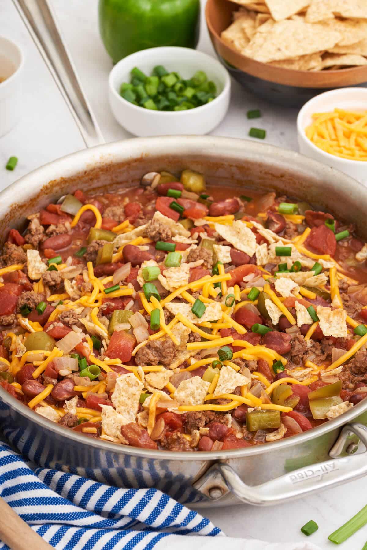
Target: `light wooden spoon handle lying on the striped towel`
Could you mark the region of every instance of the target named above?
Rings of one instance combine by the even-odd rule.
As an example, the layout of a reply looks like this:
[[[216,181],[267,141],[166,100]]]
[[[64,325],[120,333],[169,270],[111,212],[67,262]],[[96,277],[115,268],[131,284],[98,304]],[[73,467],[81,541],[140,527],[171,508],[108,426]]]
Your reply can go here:
[[[12,550],[54,550],[0,497],[0,538]]]

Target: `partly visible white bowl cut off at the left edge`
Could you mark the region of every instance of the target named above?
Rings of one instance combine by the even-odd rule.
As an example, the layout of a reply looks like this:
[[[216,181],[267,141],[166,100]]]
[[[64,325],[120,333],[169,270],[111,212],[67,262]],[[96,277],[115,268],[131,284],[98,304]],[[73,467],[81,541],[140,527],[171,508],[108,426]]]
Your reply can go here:
[[[0,136],[17,124],[21,113],[24,57],[19,46],[0,36]]]

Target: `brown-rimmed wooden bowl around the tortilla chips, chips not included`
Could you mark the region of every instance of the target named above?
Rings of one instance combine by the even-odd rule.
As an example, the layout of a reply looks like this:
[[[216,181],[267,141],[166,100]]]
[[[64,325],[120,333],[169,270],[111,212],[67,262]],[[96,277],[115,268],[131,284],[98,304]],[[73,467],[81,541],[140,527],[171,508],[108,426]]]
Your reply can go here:
[[[221,39],[239,5],[228,0],[207,0],[205,17],[218,58],[248,91],[266,101],[300,107],[311,97],[339,87],[367,86],[367,65],[351,69],[303,71],[260,63],[233,50]]]

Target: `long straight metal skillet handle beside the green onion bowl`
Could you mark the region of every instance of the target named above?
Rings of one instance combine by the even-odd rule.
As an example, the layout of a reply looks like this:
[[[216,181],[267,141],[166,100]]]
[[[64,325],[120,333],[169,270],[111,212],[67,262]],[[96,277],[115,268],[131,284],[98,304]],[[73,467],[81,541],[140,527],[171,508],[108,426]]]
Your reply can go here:
[[[105,143],[47,0],[13,0],[72,113],[86,147]]]

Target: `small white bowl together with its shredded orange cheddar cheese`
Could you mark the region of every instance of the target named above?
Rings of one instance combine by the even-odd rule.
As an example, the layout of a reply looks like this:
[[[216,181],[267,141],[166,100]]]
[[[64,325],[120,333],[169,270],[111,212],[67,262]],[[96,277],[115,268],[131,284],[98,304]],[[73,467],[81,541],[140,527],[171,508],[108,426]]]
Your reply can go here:
[[[315,113],[325,113],[325,116],[316,118]],[[303,155],[367,185],[366,88],[339,88],[313,97],[298,113],[297,131],[299,151]],[[350,157],[354,155],[359,155],[361,160],[352,160]]]

